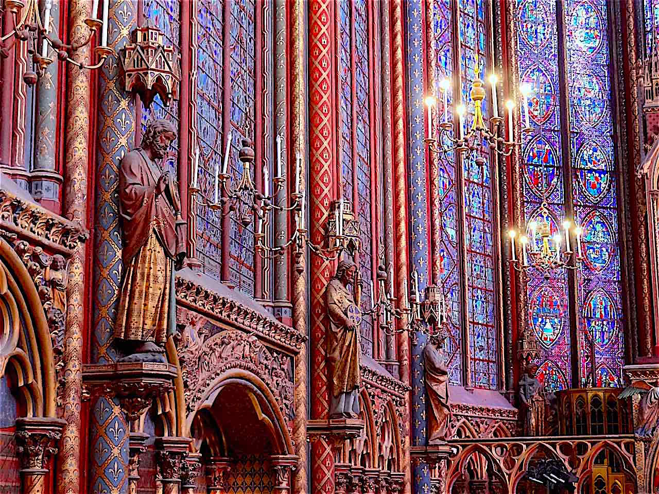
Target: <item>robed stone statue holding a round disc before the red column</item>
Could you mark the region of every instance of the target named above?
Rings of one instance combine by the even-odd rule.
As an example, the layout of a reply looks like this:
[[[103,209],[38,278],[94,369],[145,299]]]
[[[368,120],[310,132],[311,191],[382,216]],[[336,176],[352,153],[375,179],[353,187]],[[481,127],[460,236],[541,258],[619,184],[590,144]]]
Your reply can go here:
[[[353,286],[353,292],[348,286]],[[359,373],[360,281],[353,261],[339,262],[334,279],[326,288],[329,314],[327,354],[331,377],[331,418],[357,418]]]

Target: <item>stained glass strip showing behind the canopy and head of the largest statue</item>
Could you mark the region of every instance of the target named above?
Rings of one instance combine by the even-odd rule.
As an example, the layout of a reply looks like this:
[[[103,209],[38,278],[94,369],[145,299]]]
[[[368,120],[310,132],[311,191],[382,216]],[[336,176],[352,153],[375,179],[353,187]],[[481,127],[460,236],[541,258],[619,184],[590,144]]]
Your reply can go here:
[[[165,36],[165,43],[174,47],[174,60],[177,66],[181,56],[181,2],[180,0],[142,0],[142,9],[146,25],[158,28]],[[179,70],[179,69],[177,69]],[[149,121],[165,119],[179,126],[179,102],[172,101],[169,106],[163,105],[160,96],[154,98],[149,108],[142,108],[142,132],[146,130]],[[179,155],[178,138],[172,143],[165,163],[176,173]]]

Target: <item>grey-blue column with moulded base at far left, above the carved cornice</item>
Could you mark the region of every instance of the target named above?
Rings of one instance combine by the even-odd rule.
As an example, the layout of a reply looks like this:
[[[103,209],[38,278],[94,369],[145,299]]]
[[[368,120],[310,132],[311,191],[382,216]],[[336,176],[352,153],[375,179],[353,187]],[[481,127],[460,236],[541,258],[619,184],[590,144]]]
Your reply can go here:
[[[42,12],[50,7],[50,32],[59,30],[59,1],[42,0]],[[43,14],[42,14],[43,15]],[[43,19],[43,16],[42,16]],[[49,47],[54,61],[37,80],[36,126],[34,131],[34,169],[30,181],[32,195],[41,196],[41,204],[60,213],[59,188],[62,176],[55,171],[55,132],[57,130],[57,53]]]

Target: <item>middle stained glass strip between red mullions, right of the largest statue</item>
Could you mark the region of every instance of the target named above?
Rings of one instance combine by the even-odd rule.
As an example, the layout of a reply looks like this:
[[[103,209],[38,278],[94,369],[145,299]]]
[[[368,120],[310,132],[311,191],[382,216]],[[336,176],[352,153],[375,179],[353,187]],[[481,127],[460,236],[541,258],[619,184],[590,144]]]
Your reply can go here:
[[[215,198],[215,169],[222,162],[223,5],[200,0],[197,7],[196,124],[199,146],[198,186],[205,202]],[[221,275],[222,225],[219,212],[197,207],[196,255],[208,275]]]

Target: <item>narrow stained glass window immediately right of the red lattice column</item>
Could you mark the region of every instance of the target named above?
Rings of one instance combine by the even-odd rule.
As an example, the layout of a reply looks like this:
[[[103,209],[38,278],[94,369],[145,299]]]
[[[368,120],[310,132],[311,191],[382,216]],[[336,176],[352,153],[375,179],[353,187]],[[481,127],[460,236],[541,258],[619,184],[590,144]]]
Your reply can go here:
[[[371,113],[366,0],[341,0],[337,12],[341,194],[353,205],[359,220],[362,245],[358,264],[364,280],[362,310],[368,310],[372,297],[368,281],[373,279],[371,239],[376,230],[371,221]],[[361,343],[362,351],[372,356],[371,316],[362,319]]]

